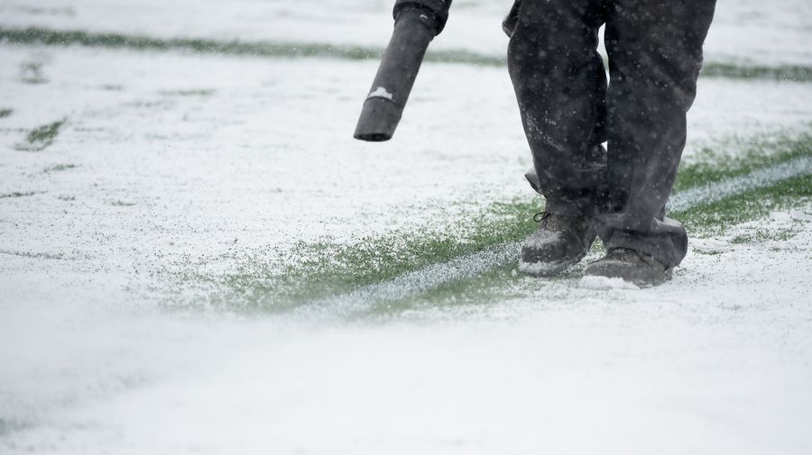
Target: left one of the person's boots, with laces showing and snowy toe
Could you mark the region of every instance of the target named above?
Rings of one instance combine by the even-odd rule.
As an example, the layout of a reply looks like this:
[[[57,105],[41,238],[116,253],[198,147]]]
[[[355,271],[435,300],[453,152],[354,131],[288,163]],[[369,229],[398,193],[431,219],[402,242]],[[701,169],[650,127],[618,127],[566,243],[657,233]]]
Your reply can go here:
[[[540,214],[539,229],[521,243],[519,270],[549,277],[584,259],[595,241],[595,223],[584,216]]]

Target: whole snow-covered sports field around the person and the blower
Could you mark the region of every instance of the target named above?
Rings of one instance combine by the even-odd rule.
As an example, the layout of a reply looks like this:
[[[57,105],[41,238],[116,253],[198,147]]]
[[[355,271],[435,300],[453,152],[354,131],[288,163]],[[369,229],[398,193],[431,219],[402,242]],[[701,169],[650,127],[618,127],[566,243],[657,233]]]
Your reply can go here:
[[[4,0],[0,32],[380,47],[391,4]],[[456,0],[433,46],[503,55],[509,4]],[[808,71],[809,3],[766,4],[721,0],[706,60]],[[661,287],[494,263],[423,280],[406,303],[360,292],[244,311],[285,298],[257,283],[304,273],[284,253],[362,257],[402,236],[397,261],[438,237],[464,246],[469,226],[503,221],[494,207],[531,202],[506,69],[427,63],[394,140],[368,144],[351,135],[374,59],[0,42],[0,61],[0,452],[812,450],[808,164],[742,189],[758,210],[725,196],[722,222],[685,196],[730,180],[725,163],[808,163],[808,77],[701,79],[698,177],[678,193],[694,239]],[[336,260],[302,259],[303,282],[363,275]],[[417,286],[432,270],[380,276]]]

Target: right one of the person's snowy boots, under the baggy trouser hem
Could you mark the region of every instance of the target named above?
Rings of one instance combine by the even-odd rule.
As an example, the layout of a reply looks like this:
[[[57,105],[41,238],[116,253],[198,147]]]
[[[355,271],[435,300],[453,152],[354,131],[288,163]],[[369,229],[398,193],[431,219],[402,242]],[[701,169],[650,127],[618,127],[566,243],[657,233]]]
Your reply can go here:
[[[601,259],[586,266],[586,275],[623,278],[637,286],[659,285],[671,279],[672,268],[646,254],[628,248],[613,248]]]

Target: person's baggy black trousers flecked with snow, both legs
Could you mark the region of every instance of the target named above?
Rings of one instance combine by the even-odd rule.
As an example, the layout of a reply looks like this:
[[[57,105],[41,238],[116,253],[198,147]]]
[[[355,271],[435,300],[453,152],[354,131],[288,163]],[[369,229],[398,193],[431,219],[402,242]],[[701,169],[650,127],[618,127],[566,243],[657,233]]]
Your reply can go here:
[[[665,204],[714,8],[715,0],[517,0],[505,20],[531,185],[547,211],[593,216],[606,248],[668,266],[685,257],[685,228]],[[604,24],[608,83],[597,52]]]

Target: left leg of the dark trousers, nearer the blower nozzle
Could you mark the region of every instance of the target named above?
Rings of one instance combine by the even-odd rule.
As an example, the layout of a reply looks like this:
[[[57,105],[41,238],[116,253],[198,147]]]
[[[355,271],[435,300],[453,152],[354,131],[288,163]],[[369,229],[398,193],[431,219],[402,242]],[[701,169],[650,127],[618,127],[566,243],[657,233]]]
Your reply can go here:
[[[515,10],[508,67],[535,187],[554,214],[593,213],[603,178],[604,157],[595,153],[605,141],[606,75],[596,50],[602,3],[523,0]]]

